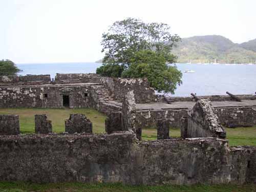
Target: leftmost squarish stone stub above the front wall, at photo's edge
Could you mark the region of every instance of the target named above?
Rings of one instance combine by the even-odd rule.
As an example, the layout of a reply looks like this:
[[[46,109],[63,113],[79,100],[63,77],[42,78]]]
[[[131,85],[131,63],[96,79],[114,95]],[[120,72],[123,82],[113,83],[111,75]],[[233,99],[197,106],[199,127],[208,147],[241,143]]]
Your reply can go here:
[[[0,115],[0,135],[18,135],[19,116]]]

